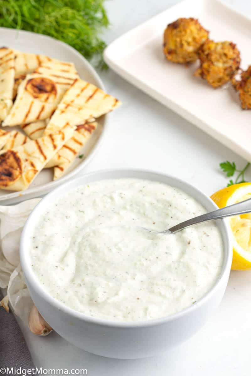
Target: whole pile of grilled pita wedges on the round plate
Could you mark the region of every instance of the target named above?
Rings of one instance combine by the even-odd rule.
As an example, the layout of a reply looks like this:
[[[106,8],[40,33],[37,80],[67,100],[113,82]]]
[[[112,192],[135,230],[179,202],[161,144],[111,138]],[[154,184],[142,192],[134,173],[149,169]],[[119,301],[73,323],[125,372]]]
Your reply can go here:
[[[60,178],[96,130],[95,118],[121,105],[81,80],[74,64],[48,56],[2,47],[0,72],[2,125],[25,133],[0,129],[4,190],[26,189],[44,167],[54,167],[53,179]]]

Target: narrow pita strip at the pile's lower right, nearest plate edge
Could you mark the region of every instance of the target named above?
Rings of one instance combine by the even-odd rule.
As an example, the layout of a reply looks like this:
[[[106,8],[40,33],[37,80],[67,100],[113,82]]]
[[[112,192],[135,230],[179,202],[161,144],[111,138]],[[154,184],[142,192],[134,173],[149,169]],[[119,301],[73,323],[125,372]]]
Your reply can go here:
[[[47,163],[46,168],[55,167],[54,180],[61,177],[76,158],[82,147],[90,139],[97,128],[97,123],[84,123],[78,125],[73,136],[61,147],[58,153]]]

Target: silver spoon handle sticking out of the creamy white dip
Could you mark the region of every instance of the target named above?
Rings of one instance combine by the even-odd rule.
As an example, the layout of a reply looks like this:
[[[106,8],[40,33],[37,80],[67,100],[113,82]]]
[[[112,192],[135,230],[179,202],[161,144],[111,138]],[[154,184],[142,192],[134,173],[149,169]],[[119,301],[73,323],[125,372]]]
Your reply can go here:
[[[164,232],[175,233],[180,230],[185,229],[186,227],[191,226],[192,224],[211,221],[213,219],[231,217],[233,215],[240,215],[251,212],[251,199],[238,202],[237,204],[226,206],[225,208],[214,210],[206,214],[199,215],[198,217],[191,218],[187,221],[176,224],[176,226],[171,227],[169,230]]]

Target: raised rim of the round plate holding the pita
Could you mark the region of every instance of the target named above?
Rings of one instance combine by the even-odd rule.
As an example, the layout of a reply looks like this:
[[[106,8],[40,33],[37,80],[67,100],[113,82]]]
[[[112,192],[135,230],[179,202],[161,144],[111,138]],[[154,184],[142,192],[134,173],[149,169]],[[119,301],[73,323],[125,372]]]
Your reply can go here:
[[[81,53],[79,53],[77,50],[75,50],[73,47],[71,47],[69,44],[60,41],[52,36],[49,35],[44,35],[40,33],[34,33],[32,31],[27,31],[27,30],[17,30],[17,29],[11,29],[9,27],[0,27],[0,33],[21,33],[21,35],[32,35],[33,37],[35,36],[36,38],[42,38],[42,39],[53,39],[57,44],[60,44],[64,49],[70,51],[71,53],[75,54],[80,58],[82,61],[84,61],[84,64],[87,66],[90,74],[93,76],[93,78],[97,82],[97,86],[99,86],[100,89],[105,91],[105,85],[103,84],[102,79],[100,78],[99,74],[96,72],[96,70],[93,68],[93,66],[90,64],[90,62],[85,59]],[[60,177],[57,180],[52,180],[48,183],[35,186],[33,188],[27,188],[26,190],[23,191],[16,191],[16,192],[11,192],[11,191],[6,191],[8,193],[0,195],[0,203],[3,205],[11,205],[14,203],[18,203],[21,201],[24,201],[26,199],[31,199],[34,197],[39,197],[39,196],[44,196],[44,194],[48,193],[49,191],[53,190],[56,188],[56,186],[61,185],[62,183],[66,182],[67,180],[70,180],[73,176],[78,174],[94,157],[94,155],[97,152],[97,149],[101,146],[103,143],[103,140],[105,138],[105,134],[107,132],[107,126],[108,126],[108,121],[110,118],[110,114],[103,115],[103,129],[102,132],[99,135],[99,138],[97,139],[96,143],[94,144],[91,152],[88,154],[88,156],[78,165],[76,166],[70,173],[68,173],[65,176]]]

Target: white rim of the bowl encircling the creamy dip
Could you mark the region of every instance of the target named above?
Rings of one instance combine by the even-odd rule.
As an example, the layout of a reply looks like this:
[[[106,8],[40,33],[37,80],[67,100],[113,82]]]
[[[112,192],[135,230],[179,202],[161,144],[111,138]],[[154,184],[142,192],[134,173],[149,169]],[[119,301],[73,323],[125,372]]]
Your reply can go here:
[[[169,316],[164,316],[161,318],[156,318],[156,319],[151,319],[151,320],[142,320],[142,321],[113,321],[113,320],[107,320],[103,318],[91,317],[91,316],[85,315],[82,312],[75,311],[75,309],[68,307],[64,303],[61,303],[59,302],[59,300],[52,297],[49,293],[47,293],[46,290],[43,289],[42,284],[39,282],[36,274],[33,272],[32,267],[28,262],[29,254],[26,251],[27,249],[26,242],[29,238],[30,227],[32,227],[32,225],[36,223],[34,219],[37,218],[37,213],[39,214],[40,210],[42,212],[46,210],[46,206],[48,203],[50,203],[51,198],[54,200],[55,196],[57,198],[59,196],[63,196],[69,191],[76,189],[77,186],[84,185],[87,183],[87,182],[82,182],[82,180],[95,177],[95,176],[98,177],[100,175],[105,176],[106,174],[116,175],[117,173],[118,174],[124,173],[125,175],[126,174],[130,175],[130,174],[135,174],[135,173],[136,174],[149,174],[151,176],[159,177],[160,180],[155,180],[155,181],[160,181],[160,182],[161,182],[161,178],[174,180],[178,183],[178,185],[182,185],[182,186],[184,185],[186,187],[186,190],[184,190],[185,192],[187,190],[192,190],[195,194],[198,194],[198,196],[200,196],[198,199],[198,202],[201,203],[201,205],[204,206],[204,203],[201,202],[201,197],[203,197],[203,199],[207,201],[208,205],[212,206],[212,209],[213,208],[218,209],[218,206],[213,202],[213,200],[211,200],[210,197],[206,196],[202,191],[200,191],[198,188],[195,188],[190,183],[187,183],[184,180],[181,180],[169,174],[159,173],[156,171],[144,170],[144,169],[131,169],[131,168],[106,169],[106,170],[93,171],[93,172],[84,174],[80,177],[76,177],[75,179],[71,179],[70,181],[67,181],[64,184],[58,186],[57,188],[52,190],[50,193],[48,193],[45,197],[43,197],[43,199],[35,206],[35,208],[33,208],[32,212],[28,216],[26,223],[23,227],[23,231],[21,233],[21,238],[20,238],[20,261],[21,261],[21,267],[24,273],[25,280],[29,281],[27,286],[29,284],[32,285],[34,291],[38,294],[38,296],[41,296],[44,300],[46,300],[46,302],[49,305],[52,305],[55,309],[59,311],[63,311],[65,314],[69,315],[70,317],[74,317],[76,319],[83,320],[88,323],[93,323],[96,325],[106,326],[106,327],[135,328],[135,327],[155,326],[155,325],[160,325],[160,324],[167,323],[170,321],[174,321],[176,319],[183,317],[186,314],[196,311],[196,309],[198,309],[199,306],[204,305],[208,300],[210,300],[211,296],[219,288],[219,285],[221,285],[221,283],[224,283],[223,276],[227,276],[228,278],[229,273],[230,273],[230,268],[231,268],[231,263],[232,263],[232,252],[231,252],[232,242],[231,242],[231,233],[230,233],[230,229],[228,226],[228,221],[226,219],[217,220],[217,223],[220,223],[220,225],[218,225],[218,228],[221,232],[222,241],[224,244],[224,264],[222,266],[221,274],[219,275],[218,280],[204,296],[202,296],[199,300],[196,301],[195,304],[190,305],[189,307]],[[114,178],[98,177],[97,179],[94,179],[93,181],[108,180],[108,179],[119,179],[119,178],[118,177],[117,178],[116,177]],[[140,177],[138,179],[143,180],[143,178],[140,178]],[[145,179],[145,180],[148,180],[148,179]],[[180,187],[178,189],[182,190],[182,188]]]

